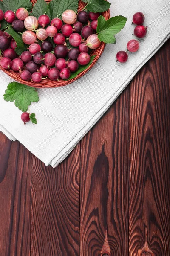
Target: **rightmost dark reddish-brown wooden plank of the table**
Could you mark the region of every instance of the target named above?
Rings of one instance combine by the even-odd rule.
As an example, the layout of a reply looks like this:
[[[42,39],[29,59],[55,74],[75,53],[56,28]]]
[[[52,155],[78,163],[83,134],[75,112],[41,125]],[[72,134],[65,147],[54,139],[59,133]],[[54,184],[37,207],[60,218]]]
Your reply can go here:
[[[130,90],[130,256],[170,256],[170,41]]]

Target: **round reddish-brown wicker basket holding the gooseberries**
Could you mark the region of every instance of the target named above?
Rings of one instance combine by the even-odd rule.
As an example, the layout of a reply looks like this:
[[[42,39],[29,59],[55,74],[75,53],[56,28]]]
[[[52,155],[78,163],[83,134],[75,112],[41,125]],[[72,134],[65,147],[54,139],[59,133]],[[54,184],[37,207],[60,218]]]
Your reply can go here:
[[[37,0],[32,0],[31,2],[34,4],[36,3]],[[45,0],[47,3],[50,2],[50,0]],[[83,3],[81,0],[79,0],[79,9],[78,11],[81,11],[83,8],[85,7],[85,3]],[[106,20],[108,20],[110,18],[110,12],[109,10],[107,12],[104,12],[102,14]],[[91,56],[92,55],[96,55],[96,57],[94,58],[94,61],[92,62],[92,64],[83,72],[79,73],[79,75],[73,79],[70,79],[68,81],[62,80],[60,79],[59,81],[52,81],[51,79],[44,79],[41,83],[36,84],[33,81],[24,81],[21,79],[20,77],[20,73],[16,73],[13,70],[5,70],[2,67],[0,67],[1,70],[3,70],[5,73],[8,74],[8,76],[10,76],[11,78],[13,78],[15,81],[20,82],[22,84],[26,84],[28,86],[31,87],[37,87],[37,88],[54,88],[54,87],[60,87],[60,86],[65,86],[68,84],[73,83],[74,81],[76,81],[77,79],[79,79],[80,77],[84,76],[85,73],[87,73],[89,70],[91,70],[91,68],[96,64],[96,62],[98,61],[98,59],[100,58],[100,56],[102,55],[102,52],[105,49],[105,44],[102,43],[101,46],[98,49],[95,49],[91,52]],[[1,57],[2,58],[2,57]]]

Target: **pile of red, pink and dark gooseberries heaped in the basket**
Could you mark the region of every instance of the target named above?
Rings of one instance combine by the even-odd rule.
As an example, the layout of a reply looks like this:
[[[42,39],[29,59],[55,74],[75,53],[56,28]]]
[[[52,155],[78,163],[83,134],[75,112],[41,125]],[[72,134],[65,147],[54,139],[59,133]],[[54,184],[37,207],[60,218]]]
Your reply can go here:
[[[38,19],[29,16],[23,7],[15,13],[0,10],[0,21],[5,19],[16,32],[22,34],[22,40],[27,45],[27,50],[17,56],[16,41],[0,30],[1,67],[20,72],[21,79],[35,83],[47,77],[53,81],[69,79],[79,66],[89,64],[90,49],[96,49],[101,44],[96,35],[99,15],[84,10],[78,14],[66,10],[62,19],[56,17],[50,20],[46,14]]]

